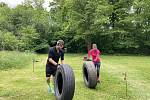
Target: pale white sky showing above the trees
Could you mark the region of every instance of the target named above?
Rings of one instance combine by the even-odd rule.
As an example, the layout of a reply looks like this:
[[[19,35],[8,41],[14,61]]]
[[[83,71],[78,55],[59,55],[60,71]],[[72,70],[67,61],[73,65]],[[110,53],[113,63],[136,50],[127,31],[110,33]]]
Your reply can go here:
[[[21,4],[24,0],[0,0],[0,2],[5,2],[6,4],[8,4],[8,6],[10,7],[16,7],[18,4]],[[53,0],[45,0],[45,3],[43,5],[44,8],[46,8],[47,10],[49,10],[50,8],[48,7],[49,5],[49,1],[53,1]]]

